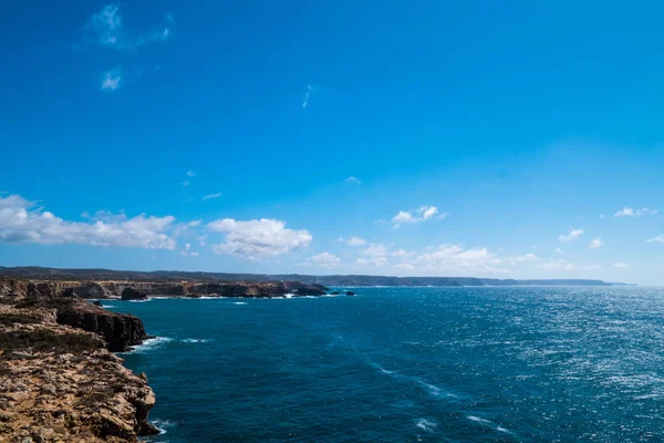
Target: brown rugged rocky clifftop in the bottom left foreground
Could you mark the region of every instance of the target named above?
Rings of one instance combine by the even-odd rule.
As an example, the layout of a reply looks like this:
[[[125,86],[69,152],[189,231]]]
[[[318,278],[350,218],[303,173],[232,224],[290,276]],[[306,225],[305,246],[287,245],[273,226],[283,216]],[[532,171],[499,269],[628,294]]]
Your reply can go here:
[[[0,305],[0,441],[137,442],[157,433],[146,377],[124,368],[101,336],[58,324],[56,312]]]

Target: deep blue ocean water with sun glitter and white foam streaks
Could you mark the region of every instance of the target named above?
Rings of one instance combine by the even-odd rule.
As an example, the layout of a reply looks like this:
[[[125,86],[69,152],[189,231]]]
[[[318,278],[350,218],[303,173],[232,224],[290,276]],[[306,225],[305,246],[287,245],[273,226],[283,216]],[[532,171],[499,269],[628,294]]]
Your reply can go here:
[[[159,442],[658,442],[664,290],[360,288],[105,301]]]

